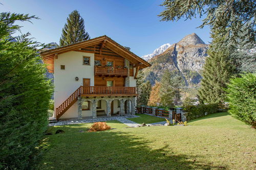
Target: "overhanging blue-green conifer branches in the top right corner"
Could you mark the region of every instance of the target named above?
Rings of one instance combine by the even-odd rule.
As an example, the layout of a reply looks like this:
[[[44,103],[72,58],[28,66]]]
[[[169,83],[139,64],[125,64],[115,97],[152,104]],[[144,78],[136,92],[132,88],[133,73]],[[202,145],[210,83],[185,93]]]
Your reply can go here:
[[[255,45],[255,9],[256,1],[223,1],[196,0],[177,1],[165,0],[164,11],[159,15],[163,21],[191,19],[196,16],[206,17],[200,28],[209,26],[212,32],[222,30],[217,36],[225,37],[215,46],[216,49],[229,48],[238,45]]]

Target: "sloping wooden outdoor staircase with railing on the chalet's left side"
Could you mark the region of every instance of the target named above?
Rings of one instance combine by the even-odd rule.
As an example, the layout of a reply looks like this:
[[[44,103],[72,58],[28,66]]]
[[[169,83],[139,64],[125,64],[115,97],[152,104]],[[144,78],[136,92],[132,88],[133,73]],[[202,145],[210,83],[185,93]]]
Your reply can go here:
[[[56,119],[59,119],[74,103],[76,103],[78,96],[82,94],[82,86],[80,86],[69,98],[56,108]]]

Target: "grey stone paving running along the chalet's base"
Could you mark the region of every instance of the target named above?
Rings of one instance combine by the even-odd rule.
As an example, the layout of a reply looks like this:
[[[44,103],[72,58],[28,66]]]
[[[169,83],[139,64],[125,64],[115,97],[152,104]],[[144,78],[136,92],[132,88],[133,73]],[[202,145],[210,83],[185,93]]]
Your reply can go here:
[[[82,120],[59,120],[57,123],[50,123],[48,126],[88,124],[88,123],[94,123],[94,122],[106,122],[109,120],[118,120],[119,122],[127,126],[131,125],[130,127],[135,127],[135,124],[136,126],[138,126],[139,124],[126,119],[126,118],[132,118],[132,117],[139,117],[139,116],[129,115],[129,116],[104,117],[104,118],[93,118],[93,119],[82,119]]]

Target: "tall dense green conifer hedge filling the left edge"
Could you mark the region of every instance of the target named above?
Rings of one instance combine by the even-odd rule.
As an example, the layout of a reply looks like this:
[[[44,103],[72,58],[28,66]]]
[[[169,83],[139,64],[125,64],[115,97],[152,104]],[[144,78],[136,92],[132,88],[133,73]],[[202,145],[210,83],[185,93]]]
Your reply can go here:
[[[51,81],[45,77],[37,48],[29,33],[11,37],[34,16],[0,14],[0,169],[31,168],[48,125]]]

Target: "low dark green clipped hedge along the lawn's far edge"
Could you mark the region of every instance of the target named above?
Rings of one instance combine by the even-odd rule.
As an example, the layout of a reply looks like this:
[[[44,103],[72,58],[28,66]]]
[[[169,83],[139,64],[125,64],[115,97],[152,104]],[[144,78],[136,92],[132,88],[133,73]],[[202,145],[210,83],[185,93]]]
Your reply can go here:
[[[187,112],[187,120],[193,120],[204,116],[205,112],[207,112],[207,114],[217,113],[219,111],[219,104],[200,104],[198,106],[187,105],[183,110]]]

